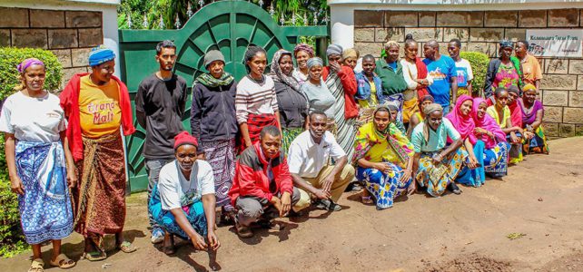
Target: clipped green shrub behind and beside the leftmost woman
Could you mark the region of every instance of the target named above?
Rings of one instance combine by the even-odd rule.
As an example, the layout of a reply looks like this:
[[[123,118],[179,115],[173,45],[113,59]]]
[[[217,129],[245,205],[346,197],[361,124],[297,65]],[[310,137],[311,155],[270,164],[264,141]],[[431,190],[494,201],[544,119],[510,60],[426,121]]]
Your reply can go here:
[[[15,92],[20,84],[16,65],[26,58],[35,57],[46,65],[44,89],[57,91],[61,83],[63,66],[54,53],[43,49],[0,48],[0,99]],[[28,248],[20,227],[18,198],[10,190],[10,179],[6,168],[4,134],[0,133],[0,256],[11,257]]]

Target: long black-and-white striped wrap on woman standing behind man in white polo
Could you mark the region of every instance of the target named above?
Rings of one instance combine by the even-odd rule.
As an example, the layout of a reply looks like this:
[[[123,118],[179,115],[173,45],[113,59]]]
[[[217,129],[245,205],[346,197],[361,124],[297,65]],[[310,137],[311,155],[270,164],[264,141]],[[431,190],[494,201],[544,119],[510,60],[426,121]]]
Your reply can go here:
[[[354,139],[356,139],[356,118],[346,119],[344,116],[345,100],[344,87],[341,79],[337,73],[331,73],[326,79],[326,86],[332,93],[336,102],[333,105],[334,122],[336,123],[337,132],[336,140],[340,144],[342,150],[346,152],[347,158],[350,161],[352,153],[354,152]]]

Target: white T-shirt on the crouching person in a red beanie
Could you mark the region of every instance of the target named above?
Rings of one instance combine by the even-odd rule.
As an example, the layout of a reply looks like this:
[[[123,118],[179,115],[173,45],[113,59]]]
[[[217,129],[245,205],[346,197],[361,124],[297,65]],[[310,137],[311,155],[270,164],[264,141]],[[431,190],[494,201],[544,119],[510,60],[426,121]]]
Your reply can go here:
[[[214,194],[212,167],[204,160],[196,160],[190,179],[186,180],[178,161],[173,160],[160,170],[158,191],[164,210],[189,206],[201,200],[203,195]]]

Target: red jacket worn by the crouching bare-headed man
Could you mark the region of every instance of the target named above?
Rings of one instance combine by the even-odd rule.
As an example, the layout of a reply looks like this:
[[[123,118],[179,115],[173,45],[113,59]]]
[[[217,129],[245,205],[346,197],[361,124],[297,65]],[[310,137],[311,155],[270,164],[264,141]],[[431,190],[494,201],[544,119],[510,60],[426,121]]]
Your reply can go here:
[[[269,189],[270,180],[267,177],[267,161],[262,155],[261,143],[256,142],[242,152],[235,167],[235,179],[229,190],[231,204],[240,196],[254,196],[271,200],[273,193]],[[272,172],[275,179],[276,192],[289,192],[293,194],[293,181],[288,162],[280,152],[279,156],[272,160]]]

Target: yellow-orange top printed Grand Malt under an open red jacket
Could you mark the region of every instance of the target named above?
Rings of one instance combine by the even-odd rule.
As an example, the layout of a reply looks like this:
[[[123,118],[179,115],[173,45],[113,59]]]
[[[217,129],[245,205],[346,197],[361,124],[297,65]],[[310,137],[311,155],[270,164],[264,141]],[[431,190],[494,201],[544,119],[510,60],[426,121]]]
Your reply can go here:
[[[81,77],[79,113],[84,137],[95,139],[120,129],[122,109],[119,101],[120,88],[113,79],[98,86],[89,75]]]

